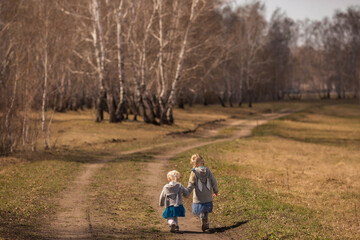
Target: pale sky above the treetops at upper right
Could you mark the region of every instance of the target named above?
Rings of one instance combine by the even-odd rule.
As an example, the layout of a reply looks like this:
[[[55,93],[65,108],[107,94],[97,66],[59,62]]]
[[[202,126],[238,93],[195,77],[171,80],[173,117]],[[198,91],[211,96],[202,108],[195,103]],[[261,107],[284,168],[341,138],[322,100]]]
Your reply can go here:
[[[251,0],[236,0],[238,4]],[[360,6],[360,0],[262,0],[266,5],[266,17],[270,19],[274,10],[279,7],[294,20],[322,20],[331,18],[335,9],[346,10],[349,6]]]

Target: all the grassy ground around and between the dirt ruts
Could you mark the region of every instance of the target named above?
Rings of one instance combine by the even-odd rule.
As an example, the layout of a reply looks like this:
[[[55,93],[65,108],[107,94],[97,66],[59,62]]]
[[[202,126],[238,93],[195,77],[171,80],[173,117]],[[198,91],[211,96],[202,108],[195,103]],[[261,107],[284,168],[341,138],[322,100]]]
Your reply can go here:
[[[218,179],[211,223],[242,239],[360,238],[360,107],[355,102],[264,103],[254,108],[176,109],[173,126],[95,123],[93,112],[55,114],[48,152],[0,158],[0,239],[47,239],[57,199],[87,163],[112,161],[89,186],[92,232],[98,239],[164,239],[156,212],[139,191],[146,162],[181,143],[179,132],[219,119],[259,119],[300,112],[253,130],[248,138],[182,153],[169,163],[186,184],[189,158],[199,152]],[[218,137],[238,128],[224,129]],[[145,147],[147,153],[117,156]],[[38,149],[41,149],[39,143]],[[190,204],[187,201],[186,204]],[[188,213],[189,214],[189,213]]]

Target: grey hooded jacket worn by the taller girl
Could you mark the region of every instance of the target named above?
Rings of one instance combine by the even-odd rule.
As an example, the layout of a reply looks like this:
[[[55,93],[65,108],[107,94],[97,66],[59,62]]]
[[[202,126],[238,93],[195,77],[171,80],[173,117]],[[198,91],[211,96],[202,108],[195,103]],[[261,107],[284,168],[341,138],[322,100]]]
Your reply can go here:
[[[193,169],[195,174],[195,181],[189,179],[189,185],[187,189],[191,192],[194,188],[193,202],[194,203],[207,203],[212,202],[212,194],[218,193],[217,182],[214,175],[211,173],[210,169],[207,167],[197,167]]]

